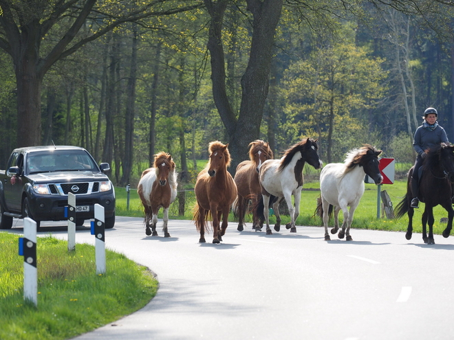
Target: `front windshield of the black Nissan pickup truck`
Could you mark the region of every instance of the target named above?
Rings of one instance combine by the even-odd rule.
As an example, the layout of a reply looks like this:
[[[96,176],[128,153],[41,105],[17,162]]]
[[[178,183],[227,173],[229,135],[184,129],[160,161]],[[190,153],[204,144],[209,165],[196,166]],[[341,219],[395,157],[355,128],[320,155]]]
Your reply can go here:
[[[83,150],[52,150],[28,155],[28,173],[98,170],[93,159]]]

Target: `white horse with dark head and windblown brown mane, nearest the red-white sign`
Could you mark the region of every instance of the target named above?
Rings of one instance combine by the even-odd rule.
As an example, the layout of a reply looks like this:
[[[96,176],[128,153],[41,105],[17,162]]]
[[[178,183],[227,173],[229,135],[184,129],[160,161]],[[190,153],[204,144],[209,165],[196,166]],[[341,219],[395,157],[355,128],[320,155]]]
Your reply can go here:
[[[365,144],[362,148],[350,150],[344,163],[329,163],[320,174],[321,203],[323,207],[323,225],[325,226],[325,240],[331,240],[328,234],[329,215],[334,208],[334,228],[332,234],[336,234],[339,229],[338,214],[340,209],[344,213],[342,229],[339,231],[338,238],[352,240],[350,236],[350,226],[352,225],[353,215],[356,207],[364,194],[364,177],[367,174],[374,179],[376,184],[383,181],[378,168],[378,155],[382,151],[374,146]],[[348,209],[350,207],[350,209]]]

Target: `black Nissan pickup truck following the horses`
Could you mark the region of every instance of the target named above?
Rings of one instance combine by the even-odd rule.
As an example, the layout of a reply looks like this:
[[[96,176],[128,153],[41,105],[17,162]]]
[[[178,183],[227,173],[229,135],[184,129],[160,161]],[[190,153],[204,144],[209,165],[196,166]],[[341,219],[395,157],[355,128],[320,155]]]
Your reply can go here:
[[[105,228],[115,224],[114,185],[84,148],[32,146],[12,151],[7,170],[0,170],[0,229],[12,218],[66,220],[68,193],[76,195],[76,225],[94,218],[96,203],[105,208]]]

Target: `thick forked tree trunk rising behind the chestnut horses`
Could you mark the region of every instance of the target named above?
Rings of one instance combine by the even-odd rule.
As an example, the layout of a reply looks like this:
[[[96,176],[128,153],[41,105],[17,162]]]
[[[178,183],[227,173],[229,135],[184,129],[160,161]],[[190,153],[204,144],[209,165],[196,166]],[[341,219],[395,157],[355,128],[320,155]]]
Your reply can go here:
[[[204,1],[210,14],[208,50],[211,56],[211,80],[213,98],[228,136],[232,163],[230,173],[235,174],[237,164],[248,158],[248,144],[259,138],[263,107],[268,95],[268,84],[272,59],[274,33],[282,10],[282,0],[248,0],[248,10],[252,12],[252,43],[248,67],[241,78],[241,106],[238,120],[228,101],[226,93],[226,70],[221,30],[227,0],[214,3]]]

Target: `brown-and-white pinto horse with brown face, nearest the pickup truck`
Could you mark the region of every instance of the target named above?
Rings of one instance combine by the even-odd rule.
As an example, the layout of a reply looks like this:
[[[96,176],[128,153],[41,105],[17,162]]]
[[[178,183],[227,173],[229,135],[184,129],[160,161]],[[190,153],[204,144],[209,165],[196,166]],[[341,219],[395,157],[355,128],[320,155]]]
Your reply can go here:
[[[158,236],[156,223],[158,223],[158,211],[162,207],[164,209],[162,230],[164,237],[170,237],[167,231],[169,206],[177,196],[177,173],[172,156],[166,152],[159,152],[155,155],[153,168],[142,172],[137,189],[145,210],[145,234],[151,235],[151,225],[153,236]]]

